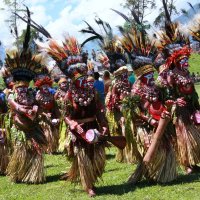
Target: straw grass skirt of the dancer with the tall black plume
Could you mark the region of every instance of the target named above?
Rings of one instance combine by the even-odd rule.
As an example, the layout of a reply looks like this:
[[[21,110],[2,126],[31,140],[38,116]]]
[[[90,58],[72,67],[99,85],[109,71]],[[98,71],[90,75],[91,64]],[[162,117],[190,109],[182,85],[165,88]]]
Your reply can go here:
[[[43,183],[45,181],[43,155],[25,142],[16,144],[8,164],[7,175],[13,182]]]

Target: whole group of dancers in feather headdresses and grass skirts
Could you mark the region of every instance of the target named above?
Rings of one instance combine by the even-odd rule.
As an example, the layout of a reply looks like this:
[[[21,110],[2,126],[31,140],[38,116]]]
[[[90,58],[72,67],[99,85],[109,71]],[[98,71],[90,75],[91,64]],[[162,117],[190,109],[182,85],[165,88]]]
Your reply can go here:
[[[100,38],[105,53],[98,59],[114,76],[102,103],[78,41],[67,36],[61,45],[35,26],[48,42],[33,53],[31,23],[28,18],[23,47],[7,51],[2,69],[2,175],[16,183],[44,183],[44,153],[65,151],[72,163],[62,179],[80,182],[94,196],[110,142],[118,148],[116,161],[137,164],[129,183],[171,182],[178,166],[186,174],[200,171],[200,106],[189,73],[190,41],[178,24],[166,23],[151,39],[134,26],[121,38]],[[199,27],[191,34],[200,41]],[[55,94],[49,57],[62,71]],[[136,76],[133,86],[127,62]]]

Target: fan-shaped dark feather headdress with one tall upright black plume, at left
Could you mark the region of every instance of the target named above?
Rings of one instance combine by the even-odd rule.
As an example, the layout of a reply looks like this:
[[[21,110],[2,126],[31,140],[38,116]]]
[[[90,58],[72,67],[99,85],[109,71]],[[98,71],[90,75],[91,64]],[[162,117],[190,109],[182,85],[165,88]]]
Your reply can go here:
[[[30,11],[27,8],[30,18]],[[27,24],[25,39],[22,49],[10,49],[6,52],[5,67],[13,76],[14,81],[30,82],[46,68],[46,60],[42,54],[32,54],[29,47],[30,25]]]

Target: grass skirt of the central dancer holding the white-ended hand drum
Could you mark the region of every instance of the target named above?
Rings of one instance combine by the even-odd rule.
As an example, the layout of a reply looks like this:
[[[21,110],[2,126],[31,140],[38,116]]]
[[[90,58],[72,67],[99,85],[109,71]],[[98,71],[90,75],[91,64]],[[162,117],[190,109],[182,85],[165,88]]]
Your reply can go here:
[[[68,172],[68,180],[74,183],[81,182],[85,190],[92,189],[105,168],[104,144],[86,144],[84,141],[76,141],[73,150],[74,158]]]

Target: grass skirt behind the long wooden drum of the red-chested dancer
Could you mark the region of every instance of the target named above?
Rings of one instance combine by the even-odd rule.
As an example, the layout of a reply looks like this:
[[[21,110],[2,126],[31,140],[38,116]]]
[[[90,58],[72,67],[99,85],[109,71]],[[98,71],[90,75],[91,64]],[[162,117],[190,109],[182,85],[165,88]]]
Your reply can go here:
[[[167,137],[170,132],[171,130],[168,126],[163,138],[160,140],[160,144],[157,147],[157,151],[155,152],[151,163],[145,165],[143,175],[149,180],[158,183],[167,183],[173,181],[177,177],[176,154],[172,139]],[[153,135],[148,133],[149,131],[147,132],[144,127],[138,128],[138,149],[143,156],[153,139]]]

